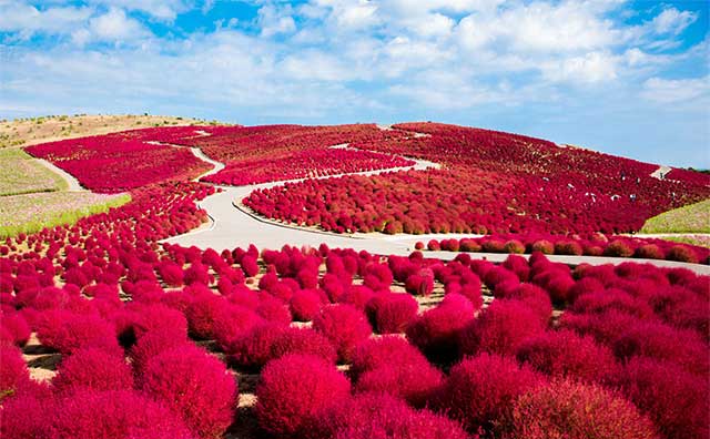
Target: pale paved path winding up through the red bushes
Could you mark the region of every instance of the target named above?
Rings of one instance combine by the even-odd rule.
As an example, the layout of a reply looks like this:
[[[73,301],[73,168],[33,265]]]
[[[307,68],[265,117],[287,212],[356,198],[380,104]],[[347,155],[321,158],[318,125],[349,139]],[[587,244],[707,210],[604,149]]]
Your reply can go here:
[[[184,146],[183,146],[184,147]],[[347,144],[335,145],[331,147],[349,147]],[[224,164],[211,160],[200,149],[191,149],[192,153],[207,163],[211,163],[214,169],[204,173],[199,180],[206,175],[216,174],[224,169]],[[354,173],[357,175],[375,175],[386,172],[406,171],[406,170],[426,170],[429,167],[440,167],[439,164],[417,160],[413,157],[406,157],[413,160],[415,165],[403,166],[395,169],[386,169],[378,171],[368,171]],[[338,174],[328,175],[317,178],[332,178],[343,175],[353,174]],[[221,251],[224,248],[246,247],[250,244],[256,245],[258,248],[281,248],[284,244],[293,246],[312,246],[317,247],[325,243],[329,247],[354,248],[356,251],[367,251],[375,254],[383,255],[400,255],[407,256],[414,251],[414,245],[418,241],[426,242],[430,238],[444,239],[444,238],[463,238],[463,237],[479,237],[481,235],[470,234],[428,234],[428,235],[383,235],[379,233],[363,234],[335,234],[324,232],[315,227],[301,227],[291,224],[284,224],[268,218],[264,218],[251,212],[247,207],[241,204],[241,201],[258,188],[268,188],[282,185],[290,182],[301,182],[306,178],[290,180],[281,182],[270,182],[263,184],[253,184],[246,186],[216,186],[221,192],[211,195],[197,203],[197,205],[207,212],[211,218],[209,224],[200,227],[195,231],[189,232],[183,235],[173,236],[164,239],[166,243],[180,244],[182,246],[197,246],[201,248],[212,247]],[[425,252],[427,257],[435,257],[443,261],[450,261],[456,257],[458,253],[453,252]],[[491,262],[503,262],[508,257],[507,254],[498,253],[471,253],[475,258],[488,259]],[[529,257],[529,255],[523,255]],[[588,256],[562,256],[550,255],[548,258],[552,262],[559,262],[564,264],[578,265],[581,263],[588,263],[591,265],[602,264],[619,264],[622,261],[632,261],[637,263],[650,263],[661,267],[684,267],[689,268],[698,274],[710,275],[710,266],[699,264],[686,264],[673,261],[656,261],[656,259],[621,259],[612,257],[588,257]]]

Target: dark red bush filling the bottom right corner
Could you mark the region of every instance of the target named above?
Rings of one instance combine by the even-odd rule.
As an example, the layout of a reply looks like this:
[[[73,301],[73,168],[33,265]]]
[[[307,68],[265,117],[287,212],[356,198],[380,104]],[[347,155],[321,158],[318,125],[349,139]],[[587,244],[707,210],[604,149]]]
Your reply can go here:
[[[648,414],[663,437],[707,438],[710,435],[710,387],[707,375],[693,376],[677,365],[632,358],[618,384]]]

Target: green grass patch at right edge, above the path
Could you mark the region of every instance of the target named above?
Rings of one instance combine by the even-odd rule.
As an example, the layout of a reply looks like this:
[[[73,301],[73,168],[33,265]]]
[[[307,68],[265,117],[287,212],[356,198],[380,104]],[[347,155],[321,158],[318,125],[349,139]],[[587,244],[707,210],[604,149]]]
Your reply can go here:
[[[710,233],[710,200],[653,216],[639,233]]]

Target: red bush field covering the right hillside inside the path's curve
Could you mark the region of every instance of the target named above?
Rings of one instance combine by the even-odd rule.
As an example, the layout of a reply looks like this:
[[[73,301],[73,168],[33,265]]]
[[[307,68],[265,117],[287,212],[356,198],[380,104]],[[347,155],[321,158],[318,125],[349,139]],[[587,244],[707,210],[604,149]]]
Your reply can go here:
[[[427,136],[352,146],[443,164],[373,178],[344,176],[254,192],[243,202],[284,222],[332,232],[630,233],[710,196],[710,176],[657,180],[657,166],[495,131],[395,125]],[[669,177],[670,178],[670,177]]]

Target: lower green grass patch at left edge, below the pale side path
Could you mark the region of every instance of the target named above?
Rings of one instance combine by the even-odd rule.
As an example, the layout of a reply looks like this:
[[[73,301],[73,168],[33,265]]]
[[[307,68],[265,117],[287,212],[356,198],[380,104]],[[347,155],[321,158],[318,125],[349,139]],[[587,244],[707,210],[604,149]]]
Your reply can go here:
[[[0,198],[0,238],[71,225],[84,216],[108,212],[131,201],[129,194],[45,192]]]

